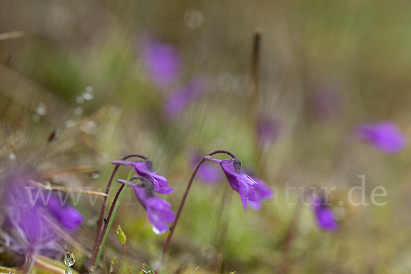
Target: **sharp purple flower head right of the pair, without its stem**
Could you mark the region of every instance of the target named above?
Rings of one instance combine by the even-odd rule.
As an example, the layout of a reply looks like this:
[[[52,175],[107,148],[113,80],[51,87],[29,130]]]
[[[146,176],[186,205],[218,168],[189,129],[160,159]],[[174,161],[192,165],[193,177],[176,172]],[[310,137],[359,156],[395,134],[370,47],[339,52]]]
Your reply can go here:
[[[241,167],[240,160],[237,158],[234,160],[206,159],[220,164],[230,186],[240,194],[244,211],[247,210],[247,201],[258,202],[258,196],[254,188],[258,183],[249,175],[245,174]]]

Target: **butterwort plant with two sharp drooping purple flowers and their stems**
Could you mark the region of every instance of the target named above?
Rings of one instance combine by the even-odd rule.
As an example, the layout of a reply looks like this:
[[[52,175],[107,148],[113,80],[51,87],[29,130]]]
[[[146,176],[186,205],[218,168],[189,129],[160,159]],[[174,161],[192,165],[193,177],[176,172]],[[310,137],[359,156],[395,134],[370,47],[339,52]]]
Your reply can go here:
[[[129,160],[130,158],[138,158],[138,160],[131,161]],[[105,218],[104,212],[107,197],[104,197],[103,205],[101,206],[100,219],[97,223],[97,236],[93,247],[92,258],[90,260],[90,273],[97,268],[105,240],[107,239],[108,232],[112,226],[114,216],[119,208],[126,186],[134,188],[134,192],[136,193],[138,200],[147,211],[149,221],[153,223],[154,232],[158,232],[158,234],[166,232],[168,229],[166,223],[174,220],[174,214],[170,209],[171,205],[168,202],[155,197],[154,195],[155,192],[159,194],[169,194],[173,192],[173,188],[169,186],[169,182],[166,178],[162,177],[155,171],[153,162],[151,162],[149,158],[144,155],[134,154],[128,155],[121,160],[113,161],[112,164],[115,166],[105,190],[106,195],[110,190],[114,176],[120,166],[130,167],[132,168],[132,171],[130,171],[126,180],[118,180],[118,182],[122,184],[119,190],[117,190],[110,206],[110,210]],[[136,173],[137,176],[133,177],[134,173]],[[142,184],[137,185],[132,183],[131,181],[134,179],[140,179]]]

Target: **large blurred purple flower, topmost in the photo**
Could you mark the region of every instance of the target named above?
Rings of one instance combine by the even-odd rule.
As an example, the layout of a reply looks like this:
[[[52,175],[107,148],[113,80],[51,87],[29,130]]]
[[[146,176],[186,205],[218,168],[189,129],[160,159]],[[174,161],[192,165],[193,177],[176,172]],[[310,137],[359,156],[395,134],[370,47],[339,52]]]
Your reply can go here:
[[[143,42],[142,61],[151,81],[160,88],[177,81],[182,60],[175,47],[147,37]]]

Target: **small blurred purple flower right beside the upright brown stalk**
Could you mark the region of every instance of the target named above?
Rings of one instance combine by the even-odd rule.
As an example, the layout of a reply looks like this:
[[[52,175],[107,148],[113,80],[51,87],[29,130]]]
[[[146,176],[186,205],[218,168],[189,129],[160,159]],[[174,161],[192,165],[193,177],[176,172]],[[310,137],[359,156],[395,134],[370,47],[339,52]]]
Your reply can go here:
[[[257,122],[257,138],[261,147],[268,147],[277,140],[279,121],[269,117],[259,117]]]

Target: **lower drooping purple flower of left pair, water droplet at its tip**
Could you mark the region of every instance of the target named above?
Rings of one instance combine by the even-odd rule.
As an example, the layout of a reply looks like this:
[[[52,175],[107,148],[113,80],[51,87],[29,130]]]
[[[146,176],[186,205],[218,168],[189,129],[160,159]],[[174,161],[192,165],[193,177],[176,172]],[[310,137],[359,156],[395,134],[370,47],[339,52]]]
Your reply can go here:
[[[126,183],[122,179],[118,179],[117,182]],[[168,231],[169,226],[166,223],[171,223],[175,219],[174,212],[171,210],[171,204],[159,197],[155,197],[153,186],[145,184],[145,180],[143,180],[142,185],[129,182],[128,186],[134,189],[138,201],[145,208],[147,217],[150,223],[153,224],[155,234],[164,234]]]

